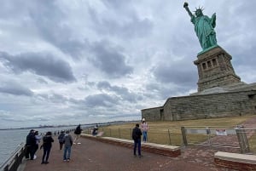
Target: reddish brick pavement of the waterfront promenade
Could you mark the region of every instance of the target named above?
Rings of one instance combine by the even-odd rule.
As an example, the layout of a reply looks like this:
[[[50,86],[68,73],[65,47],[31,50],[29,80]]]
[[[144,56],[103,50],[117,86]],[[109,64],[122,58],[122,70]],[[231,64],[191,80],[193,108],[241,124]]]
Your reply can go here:
[[[256,117],[245,125],[255,124]],[[56,138],[55,138],[56,139]],[[231,140],[231,139],[230,139]],[[166,157],[143,152],[143,157],[133,157],[132,149],[104,144],[95,140],[81,139],[81,145],[73,145],[70,162],[63,162],[63,151],[55,140],[50,152],[49,164],[41,164],[42,150],[38,158],[26,161],[24,171],[233,171],[214,165],[216,151],[237,149],[213,149],[209,146],[189,146],[183,148],[179,157]]]

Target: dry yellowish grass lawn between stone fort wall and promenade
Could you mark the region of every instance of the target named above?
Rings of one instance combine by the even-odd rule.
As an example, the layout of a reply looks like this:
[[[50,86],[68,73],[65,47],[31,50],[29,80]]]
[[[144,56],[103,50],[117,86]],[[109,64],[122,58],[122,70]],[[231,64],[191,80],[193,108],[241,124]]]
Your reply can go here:
[[[212,119],[198,119],[187,121],[156,121],[148,122],[148,142],[165,144],[165,145],[182,145],[181,127],[185,128],[235,128],[241,125],[247,119],[255,116],[247,117],[222,117]],[[146,118],[147,119],[147,118]],[[103,136],[110,136],[120,139],[131,140],[131,131],[136,123],[124,123],[100,127],[99,131],[103,131]],[[88,131],[89,132],[89,131]],[[212,136],[215,136],[214,134]],[[200,143],[207,140],[207,134],[187,134],[189,143]],[[253,139],[253,143],[254,143]]]

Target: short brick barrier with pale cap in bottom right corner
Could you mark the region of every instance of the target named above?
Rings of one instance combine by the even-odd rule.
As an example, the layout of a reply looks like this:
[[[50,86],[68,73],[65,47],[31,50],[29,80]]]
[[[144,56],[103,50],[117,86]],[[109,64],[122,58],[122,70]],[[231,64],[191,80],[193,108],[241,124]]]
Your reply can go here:
[[[218,151],[214,154],[214,163],[221,168],[241,171],[256,170],[256,156]]]

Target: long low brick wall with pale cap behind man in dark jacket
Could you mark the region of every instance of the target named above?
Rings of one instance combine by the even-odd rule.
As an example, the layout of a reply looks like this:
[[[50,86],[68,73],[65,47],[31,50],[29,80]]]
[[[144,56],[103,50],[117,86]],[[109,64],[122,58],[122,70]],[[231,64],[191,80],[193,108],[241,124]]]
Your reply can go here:
[[[97,137],[90,134],[81,134],[81,137],[90,140],[98,140],[112,145],[120,145],[128,148],[133,148],[133,140],[117,139],[113,137]],[[174,145],[160,145],[155,143],[142,143],[142,151],[148,151],[155,154],[160,154],[168,157],[178,157],[181,155],[179,146]]]

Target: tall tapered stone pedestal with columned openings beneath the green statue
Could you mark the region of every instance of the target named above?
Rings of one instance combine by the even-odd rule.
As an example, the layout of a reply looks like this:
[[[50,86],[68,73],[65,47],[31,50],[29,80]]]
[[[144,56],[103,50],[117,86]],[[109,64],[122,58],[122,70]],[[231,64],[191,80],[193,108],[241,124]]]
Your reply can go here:
[[[222,87],[232,83],[240,83],[230,62],[232,57],[223,48],[217,46],[198,54],[194,64],[198,69],[198,92],[208,88]]]

